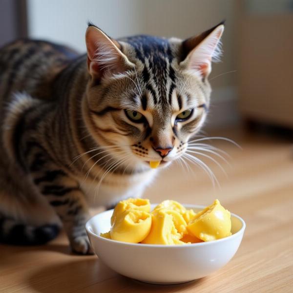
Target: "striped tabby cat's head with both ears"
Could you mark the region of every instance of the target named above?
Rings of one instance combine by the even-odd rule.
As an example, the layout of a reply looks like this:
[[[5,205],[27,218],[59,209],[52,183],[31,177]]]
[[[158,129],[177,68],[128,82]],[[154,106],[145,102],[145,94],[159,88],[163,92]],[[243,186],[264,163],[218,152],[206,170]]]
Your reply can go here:
[[[208,76],[223,23],[185,41],[135,36],[113,40],[89,25],[86,125],[100,146],[133,167],[182,155],[209,108]],[[122,162],[122,161],[121,161]]]

